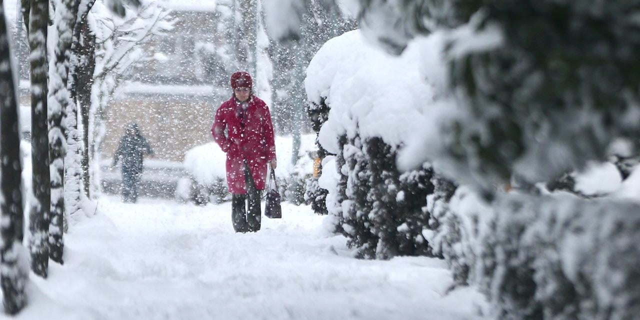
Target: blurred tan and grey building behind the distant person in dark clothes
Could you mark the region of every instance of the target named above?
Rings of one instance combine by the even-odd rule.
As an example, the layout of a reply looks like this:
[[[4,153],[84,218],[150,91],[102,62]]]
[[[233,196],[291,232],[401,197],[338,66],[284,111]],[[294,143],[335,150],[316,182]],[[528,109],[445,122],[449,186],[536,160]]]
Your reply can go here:
[[[145,44],[152,58],[140,61],[133,76],[109,104],[102,157],[112,157],[124,128],[137,122],[156,157],[182,161],[184,153],[211,141],[215,108],[228,99],[223,33],[224,4],[168,1],[175,19],[166,36]]]

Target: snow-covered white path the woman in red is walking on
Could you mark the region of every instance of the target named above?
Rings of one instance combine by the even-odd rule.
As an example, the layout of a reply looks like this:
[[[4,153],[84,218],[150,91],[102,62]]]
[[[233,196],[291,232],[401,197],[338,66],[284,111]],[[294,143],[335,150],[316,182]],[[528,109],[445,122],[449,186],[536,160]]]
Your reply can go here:
[[[440,260],[353,259],[304,206],[235,234],[229,206],[100,199],[14,319],[479,319]]]

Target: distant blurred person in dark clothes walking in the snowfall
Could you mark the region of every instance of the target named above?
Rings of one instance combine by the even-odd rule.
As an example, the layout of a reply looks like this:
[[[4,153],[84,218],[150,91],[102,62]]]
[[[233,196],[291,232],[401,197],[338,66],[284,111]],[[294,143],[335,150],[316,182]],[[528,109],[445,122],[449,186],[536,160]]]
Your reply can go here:
[[[140,133],[138,124],[132,122],[127,125],[125,134],[120,139],[112,164],[115,167],[118,161],[122,160],[122,201],[124,202],[138,201],[142,159],[145,154],[153,155],[154,151]]]

